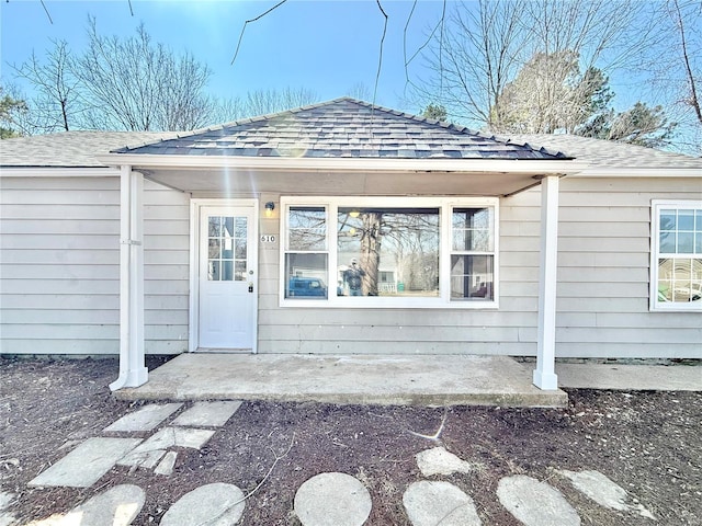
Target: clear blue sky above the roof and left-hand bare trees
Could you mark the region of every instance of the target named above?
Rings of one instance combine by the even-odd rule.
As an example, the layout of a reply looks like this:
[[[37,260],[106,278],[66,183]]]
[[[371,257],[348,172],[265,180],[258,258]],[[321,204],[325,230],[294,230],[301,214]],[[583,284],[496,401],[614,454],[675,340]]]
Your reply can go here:
[[[244,23],[275,5],[272,1],[144,1],[45,0],[53,23],[38,0],[0,3],[2,78],[11,80],[9,64],[20,65],[32,50],[43,57],[49,38],[66,39],[79,53],[86,45],[89,14],[101,35],[133,36],[144,23],[155,42],[173,52],[190,52],[214,71],[210,91],[223,98],[245,96],[258,89],[307,88],[320,100],[343,95],[361,82],[375,84],[384,16],[374,0],[288,0],[261,20],[248,24],[239,55],[231,59]],[[404,33],[411,1],[385,0],[388,27],[376,102],[400,107],[405,90]],[[427,39],[443,3],[420,1],[409,22],[408,54]],[[411,68],[420,67],[419,58]]]

